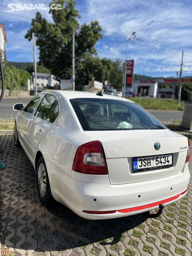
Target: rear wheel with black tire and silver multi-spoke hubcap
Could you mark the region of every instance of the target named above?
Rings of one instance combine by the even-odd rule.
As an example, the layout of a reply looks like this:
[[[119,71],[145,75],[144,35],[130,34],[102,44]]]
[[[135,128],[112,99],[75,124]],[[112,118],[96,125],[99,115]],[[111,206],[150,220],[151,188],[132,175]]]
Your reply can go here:
[[[40,157],[37,165],[37,189],[40,201],[44,205],[48,205],[53,200],[53,196],[51,194],[49,177],[43,157]]]

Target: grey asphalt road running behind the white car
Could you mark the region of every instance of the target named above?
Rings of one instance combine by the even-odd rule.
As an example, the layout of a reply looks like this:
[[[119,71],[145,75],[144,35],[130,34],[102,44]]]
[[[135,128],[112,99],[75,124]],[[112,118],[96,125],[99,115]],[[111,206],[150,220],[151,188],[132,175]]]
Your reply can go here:
[[[15,103],[23,103],[25,106],[34,96],[28,98],[4,98],[0,102],[0,119],[15,118],[17,111],[13,110]],[[183,111],[149,111],[160,121],[181,120]]]

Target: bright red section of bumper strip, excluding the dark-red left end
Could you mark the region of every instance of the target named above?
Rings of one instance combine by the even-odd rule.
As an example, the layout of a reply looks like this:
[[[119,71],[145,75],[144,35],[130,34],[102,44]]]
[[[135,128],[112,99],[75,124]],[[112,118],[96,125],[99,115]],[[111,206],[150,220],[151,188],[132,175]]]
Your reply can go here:
[[[186,189],[185,191],[183,191],[182,193],[180,193],[180,194],[178,194],[176,196],[172,196],[170,198],[167,198],[167,199],[155,202],[155,203],[145,204],[145,205],[141,205],[141,206],[137,206],[137,207],[132,207],[132,208],[127,208],[127,209],[122,209],[122,210],[117,210],[117,212],[122,212],[122,213],[134,212],[134,211],[140,211],[140,210],[143,210],[143,209],[147,209],[147,208],[151,208],[151,207],[154,207],[154,206],[158,206],[160,204],[164,204],[164,203],[167,203],[167,202],[170,202],[170,201],[173,201],[173,200],[177,199],[180,195],[185,194],[185,192],[187,192],[187,190],[188,189]]]

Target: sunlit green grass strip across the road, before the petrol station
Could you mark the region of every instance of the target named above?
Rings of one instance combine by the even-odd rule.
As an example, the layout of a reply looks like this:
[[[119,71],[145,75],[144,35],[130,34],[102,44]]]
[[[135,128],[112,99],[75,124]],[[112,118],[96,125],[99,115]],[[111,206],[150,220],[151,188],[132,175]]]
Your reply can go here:
[[[131,100],[145,109],[184,110],[184,102],[179,106],[176,99],[131,98]]]

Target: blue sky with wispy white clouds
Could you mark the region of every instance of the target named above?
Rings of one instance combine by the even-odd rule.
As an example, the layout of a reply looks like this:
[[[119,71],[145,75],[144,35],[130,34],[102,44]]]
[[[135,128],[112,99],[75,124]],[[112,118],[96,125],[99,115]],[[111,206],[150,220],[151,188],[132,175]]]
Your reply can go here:
[[[32,42],[24,38],[37,10],[10,11],[7,5],[44,4],[45,0],[1,0],[0,23],[7,36],[8,61],[32,62]],[[77,0],[80,24],[97,20],[103,39],[95,45],[100,58],[134,60],[134,74],[152,77],[192,76],[191,0]],[[59,10],[58,10],[59,11]],[[49,22],[48,10],[40,10]],[[134,33],[135,32],[135,33]],[[134,33],[134,35],[132,35]],[[37,50],[38,56],[38,50]]]

